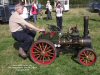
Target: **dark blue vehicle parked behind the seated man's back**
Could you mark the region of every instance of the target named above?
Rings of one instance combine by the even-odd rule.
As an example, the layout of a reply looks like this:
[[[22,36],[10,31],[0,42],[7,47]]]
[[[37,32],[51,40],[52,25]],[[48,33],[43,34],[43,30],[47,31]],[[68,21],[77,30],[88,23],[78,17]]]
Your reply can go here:
[[[11,14],[15,11],[15,5],[20,0],[0,0],[0,22],[8,22]],[[26,6],[30,11],[31,5]]]

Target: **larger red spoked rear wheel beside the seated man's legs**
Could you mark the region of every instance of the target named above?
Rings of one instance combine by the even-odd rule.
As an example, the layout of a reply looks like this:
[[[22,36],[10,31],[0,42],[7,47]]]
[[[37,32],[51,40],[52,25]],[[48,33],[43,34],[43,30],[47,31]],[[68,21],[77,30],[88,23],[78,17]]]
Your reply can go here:
[[[56,59],[56,48],[52,42],[39,40],[30,49],[30,57],[39,65],[49,65]]]

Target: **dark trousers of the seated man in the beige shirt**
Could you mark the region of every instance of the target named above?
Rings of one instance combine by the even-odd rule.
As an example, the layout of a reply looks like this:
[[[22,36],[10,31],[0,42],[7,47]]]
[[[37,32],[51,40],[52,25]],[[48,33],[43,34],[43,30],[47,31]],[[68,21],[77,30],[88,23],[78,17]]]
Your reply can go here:
[[[34,41],[35,35],[36,35],[35,31],[30,31],[28,29],[12,33],[12,37],[16,41],[21,43],[20,47],[23,48],[25,52],[27,52],[29,48],[31,47],[32,42]]]

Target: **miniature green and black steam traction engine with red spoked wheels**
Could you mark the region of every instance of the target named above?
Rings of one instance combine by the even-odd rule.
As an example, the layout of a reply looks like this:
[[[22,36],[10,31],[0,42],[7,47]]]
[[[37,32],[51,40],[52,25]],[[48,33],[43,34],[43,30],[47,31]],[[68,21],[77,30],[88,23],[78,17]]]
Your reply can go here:
[[[57,57],[57,48],[74,48],[80,64],[92,66],[96,62],[96,54],[93,51],[91,37],[88,31],[88,16],[84,17],[83,36],[79,35],[77,26],[70,28],[67,33],[57,31],[44,32],[39,40],[32,44],[30,57],[39,65],[49,65]],[[54,27],[53,27],[54,28]],[[52,27],[49,29],[53,29]]]

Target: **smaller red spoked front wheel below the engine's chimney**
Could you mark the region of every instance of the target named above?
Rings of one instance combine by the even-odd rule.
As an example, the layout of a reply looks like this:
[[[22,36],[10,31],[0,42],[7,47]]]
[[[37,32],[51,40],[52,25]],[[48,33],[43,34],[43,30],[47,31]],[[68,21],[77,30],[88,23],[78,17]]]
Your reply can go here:
[[[90,48],[84,48],[78,54],[79,63],[84,66],[92,66],[96,62],[96,54]]]

